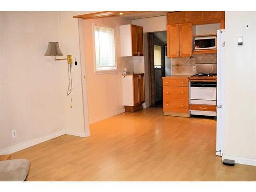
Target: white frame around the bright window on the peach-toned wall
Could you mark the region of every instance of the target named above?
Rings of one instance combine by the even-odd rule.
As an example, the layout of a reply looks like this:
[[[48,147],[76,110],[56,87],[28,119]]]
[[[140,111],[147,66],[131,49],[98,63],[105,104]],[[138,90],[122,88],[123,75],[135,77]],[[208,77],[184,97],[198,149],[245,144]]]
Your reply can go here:
[[[97,70],[97,64],[96,64],[96,50],[95,50],[95,26],[99,26],[99,27],[106,27],[106,28],[113,28],[114,29],[114,41],[115,41],[115,63],[116,63],[116,69],[106,69],[106,70]],[[117,69],[117,56],[116,56],[116,28],[115,27],[111,27],[111,26],[104,26],[104,25],[97,25],[97,24],[93,24],[92,25],[92,36],[93,36],[93,60],[94,60],[94,74],[108,74],[108,73],[117,73],[118,69]]]

